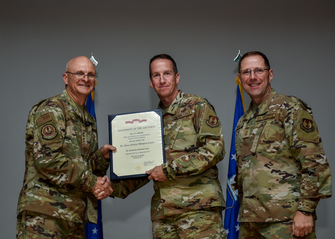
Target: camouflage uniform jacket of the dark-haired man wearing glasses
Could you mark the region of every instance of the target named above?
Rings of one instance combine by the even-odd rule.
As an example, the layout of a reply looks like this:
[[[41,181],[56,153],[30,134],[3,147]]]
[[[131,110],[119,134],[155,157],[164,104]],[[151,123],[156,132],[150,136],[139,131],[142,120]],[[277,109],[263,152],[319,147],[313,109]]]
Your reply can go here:
[[[311,108],[271,89],[236,127],[240,222],[292,220],[332,195],[331,171]]]

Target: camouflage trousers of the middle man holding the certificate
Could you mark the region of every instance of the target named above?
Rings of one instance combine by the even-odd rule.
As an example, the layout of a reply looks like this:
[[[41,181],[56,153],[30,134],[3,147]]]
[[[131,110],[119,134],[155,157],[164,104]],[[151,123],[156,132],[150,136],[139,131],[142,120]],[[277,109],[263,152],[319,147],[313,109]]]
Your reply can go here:
[[[153,239],[225,239],[222,210],[212,207],[152,221]]]

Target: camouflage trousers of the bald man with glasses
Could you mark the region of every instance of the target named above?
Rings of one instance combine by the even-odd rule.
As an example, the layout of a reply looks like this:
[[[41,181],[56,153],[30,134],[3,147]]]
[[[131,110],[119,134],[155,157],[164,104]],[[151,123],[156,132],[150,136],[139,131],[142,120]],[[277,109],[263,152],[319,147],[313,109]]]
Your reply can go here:
[[[85,239],[85,224],[23,211],[17,217],[16,239]]]

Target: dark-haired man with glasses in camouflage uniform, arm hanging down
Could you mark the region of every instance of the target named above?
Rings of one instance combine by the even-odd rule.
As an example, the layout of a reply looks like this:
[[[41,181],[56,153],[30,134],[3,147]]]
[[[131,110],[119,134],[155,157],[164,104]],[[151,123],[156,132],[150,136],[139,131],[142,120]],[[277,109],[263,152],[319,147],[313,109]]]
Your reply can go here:
[[[252,99],[236,127],[239,238],[316,238],[316,206],[332,194],[329,164],[312,109],[276,93],[272,74],[260,52],[239,62]]]

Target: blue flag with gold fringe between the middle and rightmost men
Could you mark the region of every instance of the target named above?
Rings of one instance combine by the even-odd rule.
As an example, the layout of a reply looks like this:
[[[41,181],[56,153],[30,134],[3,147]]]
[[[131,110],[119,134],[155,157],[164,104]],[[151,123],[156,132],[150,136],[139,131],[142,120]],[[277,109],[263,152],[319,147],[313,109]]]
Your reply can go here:
[[[228,167],[228,180],[227,180],[227,196],[226,196],[226,209],[224,210],[224,229],[227,234],[227,239],[238,239],[240,223],[237,221],[239,213],[239,200],[237,188],[237,172],[236,172],[236,152],[235,152],[235,128],[239,118],[244,114],[244,99],[243,89],[239,78],[236,78],[237,96],[235,103],[234,122],[232,127],[232,136],[230,144],[230,157]]]

